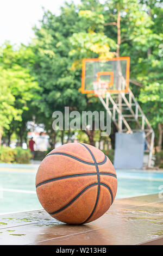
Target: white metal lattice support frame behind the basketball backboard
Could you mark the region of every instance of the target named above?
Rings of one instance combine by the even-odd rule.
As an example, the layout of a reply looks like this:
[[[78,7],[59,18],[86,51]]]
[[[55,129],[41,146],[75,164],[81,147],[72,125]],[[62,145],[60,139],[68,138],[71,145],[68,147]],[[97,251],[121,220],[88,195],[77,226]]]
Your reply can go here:
[[[114,121],[118,132],[145,132],[148,153],[147,167],[152,166],[154,131],[149,124],[148,119],[143,113],[134,94],[129,89],[128,93],[110,94],[106,92],[106,97],[98,95],[106,111]]]

